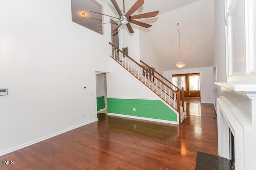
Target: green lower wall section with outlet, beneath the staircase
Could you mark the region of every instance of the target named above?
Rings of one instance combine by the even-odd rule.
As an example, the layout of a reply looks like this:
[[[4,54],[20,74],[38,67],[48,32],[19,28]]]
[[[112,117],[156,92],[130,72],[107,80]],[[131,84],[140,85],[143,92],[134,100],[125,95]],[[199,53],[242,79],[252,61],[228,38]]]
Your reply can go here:
[[[108,98],[108,113],[177,121],[176,113],[161,100]]]

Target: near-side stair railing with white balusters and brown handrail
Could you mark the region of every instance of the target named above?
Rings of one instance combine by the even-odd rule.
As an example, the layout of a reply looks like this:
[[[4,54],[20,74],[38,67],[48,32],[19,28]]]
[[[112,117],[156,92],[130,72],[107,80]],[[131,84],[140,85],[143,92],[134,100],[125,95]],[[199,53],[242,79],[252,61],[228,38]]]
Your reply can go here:
[[[134,61],[123,51],[118,49],[112,43],[112,59],[122,65],[139,81],[145,84],[150,90],[158,95],[166,104],[173,107],[179,113],[180,122],[180,90],[174,90],[166,82],[155,76],[150,70],[144,68],[141,64]]]

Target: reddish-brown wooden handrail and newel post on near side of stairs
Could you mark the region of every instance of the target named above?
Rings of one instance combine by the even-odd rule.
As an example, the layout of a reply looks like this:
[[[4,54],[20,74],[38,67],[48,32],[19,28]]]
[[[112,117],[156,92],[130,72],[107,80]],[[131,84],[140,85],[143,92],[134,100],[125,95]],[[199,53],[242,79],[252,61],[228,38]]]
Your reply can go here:
[[[140,68],[142,68],[142,70],[144,70],[145,72],[147,72],[150,76],[152,76],[154,79],[158,80],[159,82],[161,82],[164,86],[166,86],[168,89],[170,89],[172,92],[174,92],[174,94],[176,94],[175,96],[180,96],[180,91],[179,90],[174,90],[173,88],[171,88],[170,86],[168,86],[168,84],[166,84],[165,82],[163,82],[162,80],[160,80],[160,78],[156,77],[154,74],[152,74],[151,72],[149,72],[146,68],[144,68],[141,64],[139,64],[138,62],[136,62],[134,59],[132,59],[130,56],[128,56],[127,54],[125,54],[122,50],[120,50],[118,47],[116,47],[114,44],[109,43],[110,45],[112,45],[112,47],[114,47],[114,49],[118,50],[119,52],[121,52],[123,55],[125,55],[126,57],[128,57],[128,59],[130,59],[131,61],[133,61],[135,64],[137,64],[137,66],[139,66]],[[112,56],[110,56],[112,57]],[[113,58],[113,57],[112,57]],[[118,62],[118,61],[116,61]],[[120,63],[119,63],[120,64]],[[127,68],[126,68],[127,69]],[[128,70],[129,71],[129,70]],[[135,76],[136,77],[136,76]],[[137,77],[136,77],[137,78]],[[151,88],[150,88],[151,89]],[[152,89],[151,89],[152,90]],[[157,94],[158,95],[158,94]],[[159,96],[159,95],[158,95]],[[170,96],[169,96],[170,97]],[[160,98],[162,98],[160,96]],[[174,99],[175,101],[176,99]],[[165,101],[165,100],[164,100]],[[180,119],[180,98],[177,98],[177,109],[175,107],[173,107],[176,111],[178,111],[179,113],[179,119]],[[166,102],[166,101],[165,101]],[[171,106],[172,107],[172,106]]]

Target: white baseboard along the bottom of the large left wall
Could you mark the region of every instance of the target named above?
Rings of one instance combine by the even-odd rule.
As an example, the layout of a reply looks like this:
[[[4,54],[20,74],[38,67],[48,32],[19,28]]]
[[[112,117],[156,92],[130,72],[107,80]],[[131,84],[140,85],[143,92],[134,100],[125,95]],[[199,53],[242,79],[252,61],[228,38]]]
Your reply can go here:
[[[98,119],[93,119],[93,120],[91,120],[91,121],[87,121],[87,122],[81,123],[81,124],[79,124],[79,125],[70,127],[70,128],[68,128],[68,129],[64,129],[64,130],[62,130],[62,131],[58,131],[58,132],[56,132],[56,133],[52,133],[52,134],[50,134],[50,135],[41,137],[41,138],[36,139],[36,140],[34,140],[34,141],[30,141],[30,142],[24,143],[24,144],[22,144],[22,145],[18,145],[18,146],[16,146],[16,147],[13,147],[13,148],[4,150],[4,151],[0,152],[0,156],[2,156],[2,155],[4,155],[4,154],[8,154],[8,153],[13,152],[13,151],[18,150],[18,149],[22,149],[22,148],[24,148],[24,147],[28,147],[28,146],[33,145],[33,144],[35,144],[35,143],[44,141],[44,140],[49,139],[49,138],[51,138],[51,137],[55,137],[55,136],[57,136],[57,135],[60,135],[60,134],[65,133],[65,132],[67,132],[67,131],[71,131],[71,130],[73,130],[73,129],[76,129],[76,128],[81,127],[81,126],[84,126],[84,125],[87,125],[87,124],[89,124],[89,123],[93,123],[93,122],[95,122],[95,121],[98,121]]]

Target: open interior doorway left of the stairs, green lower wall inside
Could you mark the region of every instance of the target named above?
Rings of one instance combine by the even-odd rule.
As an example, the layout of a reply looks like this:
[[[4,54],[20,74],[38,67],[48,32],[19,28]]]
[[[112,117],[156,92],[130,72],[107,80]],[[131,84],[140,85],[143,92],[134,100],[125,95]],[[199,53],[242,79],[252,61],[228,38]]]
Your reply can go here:
[[[96,73],[96,99],[98,113],[108,113],[108,94],[106,73]]]

